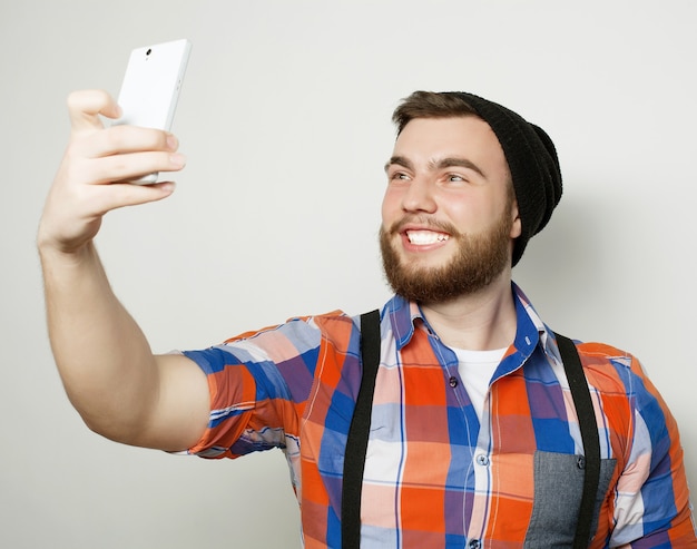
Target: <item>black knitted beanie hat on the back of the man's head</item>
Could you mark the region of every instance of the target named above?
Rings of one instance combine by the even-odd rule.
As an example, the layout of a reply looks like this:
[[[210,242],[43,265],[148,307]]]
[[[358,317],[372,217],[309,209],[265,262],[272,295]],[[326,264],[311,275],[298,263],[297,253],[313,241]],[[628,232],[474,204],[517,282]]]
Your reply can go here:
[[[495,102],[463,91],[462,98],[493,130],[508,161],[522,232],[513,245],[513,266],[528,241],[549,222],[561,198],[561,171],[554,144],[544,130]]]

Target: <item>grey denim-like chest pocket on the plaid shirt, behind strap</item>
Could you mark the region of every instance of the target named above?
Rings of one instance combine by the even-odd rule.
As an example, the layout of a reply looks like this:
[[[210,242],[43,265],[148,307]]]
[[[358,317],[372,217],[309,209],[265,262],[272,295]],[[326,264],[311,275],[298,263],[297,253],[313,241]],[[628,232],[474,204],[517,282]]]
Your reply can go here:
[[[534,501],[523,546],[526,549],[573,546],[583,493],[585,464],[583,455],[540,451],[534,453]],[[598,513],[616,464],[616,459],[600,460],[591,532],[598,527]]]

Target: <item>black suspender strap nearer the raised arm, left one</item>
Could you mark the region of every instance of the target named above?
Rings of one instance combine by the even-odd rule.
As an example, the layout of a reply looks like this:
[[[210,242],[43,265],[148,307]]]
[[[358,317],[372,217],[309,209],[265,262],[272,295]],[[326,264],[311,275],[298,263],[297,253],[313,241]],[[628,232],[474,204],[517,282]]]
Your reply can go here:
[[[361,389],[344,452],[341,502],[341,535],[344,549],[357,549],[361,546],[361,491],[375,376],[380,365],[380,311],[377,310],[361,315],[361,361],[363,363]]]

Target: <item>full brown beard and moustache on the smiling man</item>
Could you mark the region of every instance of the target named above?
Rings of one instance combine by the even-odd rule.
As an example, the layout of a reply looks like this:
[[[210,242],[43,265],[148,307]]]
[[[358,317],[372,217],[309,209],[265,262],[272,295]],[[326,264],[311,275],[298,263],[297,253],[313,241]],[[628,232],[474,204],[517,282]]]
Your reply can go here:
[[[385,277],[392,290],[409,301],[418,303],[443,303],[460,296],[471,295],[491,284],[510,265],[512,219],[502,215],[485,233],[461,234],[452,225],[438,226],[438,229],[455,241],[458,249],[452,259],[440,267],[409,265],[400,257],[392,244],[404,218],[390,229],[380,228],[380,249]],[[423,222],[424,219],[421,219]]]

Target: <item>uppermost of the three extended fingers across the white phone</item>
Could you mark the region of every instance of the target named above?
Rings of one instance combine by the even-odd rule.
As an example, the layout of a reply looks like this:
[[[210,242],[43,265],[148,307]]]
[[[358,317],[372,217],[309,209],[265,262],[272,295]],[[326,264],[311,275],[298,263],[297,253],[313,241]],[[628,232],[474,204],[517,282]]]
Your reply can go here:
[[[179,140],[173,134],[136,126],[112,126],[82,137],[72,147],[86,158],[144,151],[174,153],[179,147]]]

